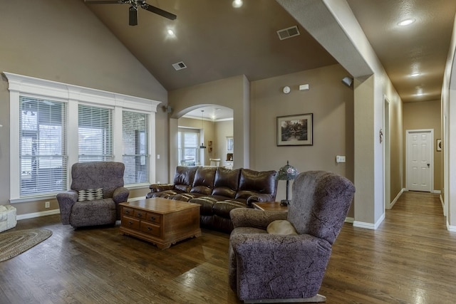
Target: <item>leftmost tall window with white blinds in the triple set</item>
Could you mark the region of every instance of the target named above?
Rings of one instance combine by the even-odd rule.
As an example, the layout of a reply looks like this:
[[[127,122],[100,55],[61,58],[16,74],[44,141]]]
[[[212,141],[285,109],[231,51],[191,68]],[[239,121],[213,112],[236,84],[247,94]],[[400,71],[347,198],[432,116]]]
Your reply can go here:
[[[66,104],[19,97],[21,196],[66,189]]]

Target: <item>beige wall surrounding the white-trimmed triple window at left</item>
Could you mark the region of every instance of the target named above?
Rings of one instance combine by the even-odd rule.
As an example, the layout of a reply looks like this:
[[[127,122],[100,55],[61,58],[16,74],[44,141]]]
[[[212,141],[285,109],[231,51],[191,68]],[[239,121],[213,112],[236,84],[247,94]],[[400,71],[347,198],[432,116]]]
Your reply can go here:
[[[83,1],[2,1],[0,72],[28,75],[167,103],[167,91],[88,10]],[[71,113],[70,113],[71,114]],[[9,204],[9,91],[0,82],[0,204]],[[167,115],[156,116],[157,179],[167,173]],[[165,147],[166,149],[162,149]],[[147,189],[138,189],[142,196]],[[14,204],[18,214],[57,209]]]

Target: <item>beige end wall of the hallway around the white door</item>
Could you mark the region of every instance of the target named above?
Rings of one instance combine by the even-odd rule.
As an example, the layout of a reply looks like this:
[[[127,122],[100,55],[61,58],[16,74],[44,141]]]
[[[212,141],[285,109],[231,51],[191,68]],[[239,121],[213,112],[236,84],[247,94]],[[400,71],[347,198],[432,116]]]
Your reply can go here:
[[[407,145],[405,145],[405,132],[407,130],[434,130],[434,190],[442,188],[441,172],[442,167],[442,152],[437,152],[435,149],[436,140],[442,139],[441,123],[440,123],[440,100],[426,101],[421,103],[404,103],[403,105],[403,122],[404,122],[404,137],[403,145],[405,147],[403,153],[403,172],[406,171],[405,156],[407,154]],[[403,184],[406,184],[407,176],[404,174]]]

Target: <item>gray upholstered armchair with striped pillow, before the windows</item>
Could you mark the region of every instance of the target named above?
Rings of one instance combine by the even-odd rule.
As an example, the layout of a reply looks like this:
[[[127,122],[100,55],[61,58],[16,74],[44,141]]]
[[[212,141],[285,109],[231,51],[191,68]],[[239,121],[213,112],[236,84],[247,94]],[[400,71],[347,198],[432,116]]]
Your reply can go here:
[[[119,203],[130,191],[123,187],[121,162],[78,162],[71,167],[71,189],[57,194],[62,224],[81,226],[115,224]]]

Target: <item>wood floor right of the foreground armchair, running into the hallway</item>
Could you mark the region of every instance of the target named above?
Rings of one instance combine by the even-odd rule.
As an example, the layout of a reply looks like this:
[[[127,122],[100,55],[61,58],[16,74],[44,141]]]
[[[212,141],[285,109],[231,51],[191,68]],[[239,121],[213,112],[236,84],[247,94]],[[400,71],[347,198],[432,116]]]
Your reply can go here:
[[[454,303],[456,234],[439,194],[404,192],[372,231],[345,224],[320,293],[328,303]]]

